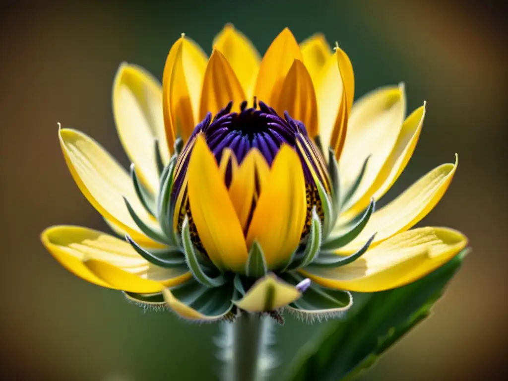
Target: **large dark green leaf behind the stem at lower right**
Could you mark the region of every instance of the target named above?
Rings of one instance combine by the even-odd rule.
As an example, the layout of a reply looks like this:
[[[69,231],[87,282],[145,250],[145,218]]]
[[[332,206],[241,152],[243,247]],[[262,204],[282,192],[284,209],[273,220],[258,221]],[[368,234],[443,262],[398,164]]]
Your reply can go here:
[[[290,367],[291,380],[337,381],[371,366],[391,345],[431,313],[468,249],[429,275],[403,287],[370,294],[344,322],[302,348]]]

